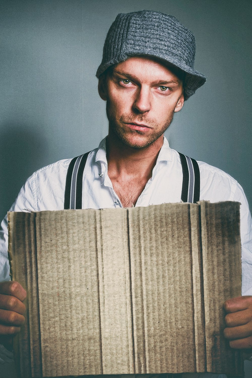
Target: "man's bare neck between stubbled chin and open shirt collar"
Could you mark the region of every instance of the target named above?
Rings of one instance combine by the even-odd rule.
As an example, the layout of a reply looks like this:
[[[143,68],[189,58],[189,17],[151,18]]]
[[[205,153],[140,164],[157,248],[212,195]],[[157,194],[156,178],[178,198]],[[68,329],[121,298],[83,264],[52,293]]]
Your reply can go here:
[[[149,179],[163,141],[162,135],[150,146],[133,148],[125,145],[114,133],[109,133],[106,142],[109,177],[128,175]]]

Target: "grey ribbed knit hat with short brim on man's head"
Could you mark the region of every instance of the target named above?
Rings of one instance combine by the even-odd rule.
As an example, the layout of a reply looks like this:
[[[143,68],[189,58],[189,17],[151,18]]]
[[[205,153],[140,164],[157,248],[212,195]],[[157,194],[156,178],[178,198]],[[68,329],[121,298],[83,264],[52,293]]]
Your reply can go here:
[[[206,77],[193,69],[194,35],[171,15],[155,11],[118,14],[105,39],[96,76],[133,55],[157,57],[181,69],[185,100],[206,82]]]

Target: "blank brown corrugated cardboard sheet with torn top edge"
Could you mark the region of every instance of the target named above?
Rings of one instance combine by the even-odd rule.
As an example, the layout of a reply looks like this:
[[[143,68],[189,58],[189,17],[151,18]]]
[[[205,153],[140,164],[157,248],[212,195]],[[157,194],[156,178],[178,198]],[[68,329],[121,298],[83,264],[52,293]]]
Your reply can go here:
[[[10,212],[13,279],[28,291],[22,377],[242,375],[223,337],[241,295],[240,204]]]

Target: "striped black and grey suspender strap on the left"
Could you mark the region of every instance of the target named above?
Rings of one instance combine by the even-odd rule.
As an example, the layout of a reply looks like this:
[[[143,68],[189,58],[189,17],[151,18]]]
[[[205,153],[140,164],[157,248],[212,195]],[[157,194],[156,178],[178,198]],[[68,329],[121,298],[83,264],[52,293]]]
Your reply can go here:
[[[64,209],[82,208],[82,178],[89,152],[71,160],[66,174]]]

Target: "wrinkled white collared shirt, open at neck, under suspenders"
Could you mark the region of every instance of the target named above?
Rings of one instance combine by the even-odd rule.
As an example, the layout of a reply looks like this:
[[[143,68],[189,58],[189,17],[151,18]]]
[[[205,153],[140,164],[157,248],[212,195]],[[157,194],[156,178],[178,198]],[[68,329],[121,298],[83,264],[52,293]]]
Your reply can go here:
[[[122,207],[108,177],[106,138],[87,159],[83,173],[82,208]],[[10,211],[62,210],[66,173],[71,159],[43,167],[28,178]],[[252,295],[252,220],[242,187],[222,170],[198,161],[200,200],[238,201],[241,203],[242,293]],[[159,152],[152,178],[148,180],[135,206],[148,206],[181,201],[182,166],[178,152],[164,144]],[[6,217],[0,229],[0,281],[9,280],[8,230]],[[187,375],[185,375],[187,376]],[[188,376],[205,376],[188,375]],[[209,375],[210,377],[212,375]],[[213,375],[217,377],[216,375]],[[221,377],[223,375],[219,375]]]

